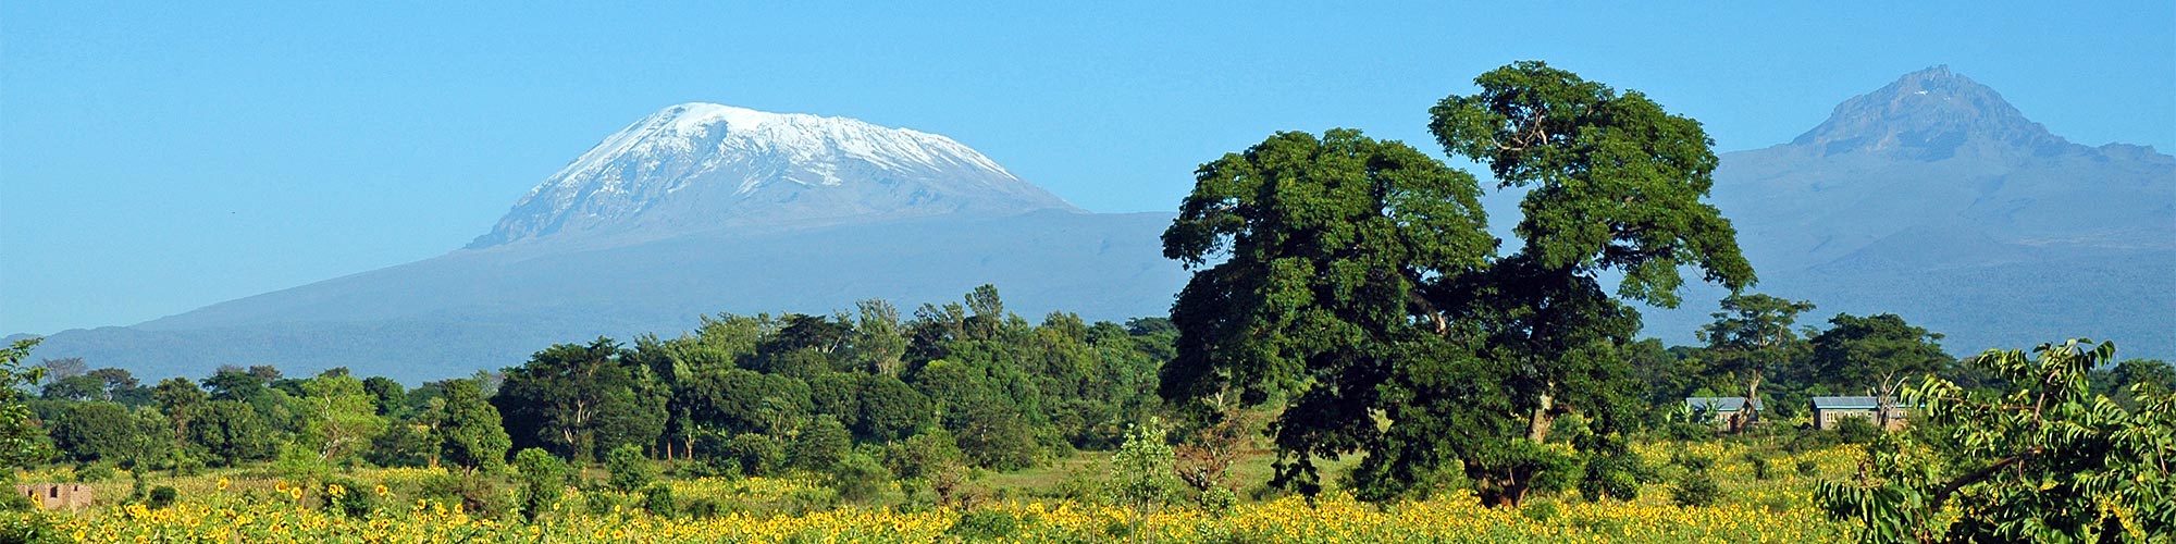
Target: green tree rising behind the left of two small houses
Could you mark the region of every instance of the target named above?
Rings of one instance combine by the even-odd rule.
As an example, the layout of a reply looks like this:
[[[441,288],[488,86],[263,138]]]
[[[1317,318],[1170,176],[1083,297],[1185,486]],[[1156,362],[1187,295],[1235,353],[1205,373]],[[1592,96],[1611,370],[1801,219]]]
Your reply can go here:
[[[1713,313],[1715,322],[1699,326],[1697,335],[1708,344],[1717,370],[1736,372],[1745,381],[1745,398],[1760,398],[1760,381],[1806,350],[1806,339],[1791,324],[1810,309],[1813,302],[1806,300],[1730,294],[1723,311]]]

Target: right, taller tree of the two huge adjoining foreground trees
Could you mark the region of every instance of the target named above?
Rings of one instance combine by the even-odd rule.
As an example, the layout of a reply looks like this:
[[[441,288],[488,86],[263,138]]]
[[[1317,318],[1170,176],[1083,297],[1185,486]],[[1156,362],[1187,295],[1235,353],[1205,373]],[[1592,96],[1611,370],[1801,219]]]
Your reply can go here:
[[[1541,442],[1560,413],[1591,422],[1575,444],[1588,457],[1584,490],[1630,496],[1621,431],[1636,394],[1619,348],[1639,331],[1639,311],[1619,298],[1676,307],[1680,268],[1732,292],[1754,283],[1730,220],[1704,202],[1713,141],[1699,122],[1639,91],[1538,61],[1475,85],[1478,94],[1430,109],[1430,131],[1447,152],[1486,163],[1499,189],[1525,189],[1521,248],[1488,274],[1447,285],[1445,298],[1460,305],[1445,307],[1480,331],[1482,361],[1414,374],[1417,390],[1432,392],[1414,398],[1438,398],[1430,416],[1458,429],[1443,446],[1493,505],[1519,503],[1530,479],[1558,466]],[[1615,298],[1602,272],[1621,274]]]

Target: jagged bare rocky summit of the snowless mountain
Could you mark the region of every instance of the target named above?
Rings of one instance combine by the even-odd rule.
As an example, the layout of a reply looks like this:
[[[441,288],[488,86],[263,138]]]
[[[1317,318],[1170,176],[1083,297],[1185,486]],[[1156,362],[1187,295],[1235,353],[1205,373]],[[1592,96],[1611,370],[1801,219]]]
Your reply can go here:
[[[1941,161],[1956,154],[2061,154],[2076,144],[2028,120],[2002,94],[1948,65],[1911,72],[1871,94],[1843,100],[1793,146],[1821,154],[1878,152]]]

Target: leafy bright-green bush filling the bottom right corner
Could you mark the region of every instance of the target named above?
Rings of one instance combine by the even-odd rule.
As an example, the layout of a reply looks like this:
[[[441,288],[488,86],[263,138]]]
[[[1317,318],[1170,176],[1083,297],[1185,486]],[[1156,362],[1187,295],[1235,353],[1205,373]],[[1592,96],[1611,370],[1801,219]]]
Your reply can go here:
[[[2176,394],[2132,390],[2124,409],[2091,394],[2089,370],[2115,344],[2041,344],[2035,357],[1974,359],[2006,392],[1971,392],[1939,376],[1902,398],[1948,435],[1889,433],[1867,446],[1852,481],[1823,483],[1830,516],[1865,542],[2148,542],[2176,533]],[[1917,422],[1915,422],[1917,424]]]

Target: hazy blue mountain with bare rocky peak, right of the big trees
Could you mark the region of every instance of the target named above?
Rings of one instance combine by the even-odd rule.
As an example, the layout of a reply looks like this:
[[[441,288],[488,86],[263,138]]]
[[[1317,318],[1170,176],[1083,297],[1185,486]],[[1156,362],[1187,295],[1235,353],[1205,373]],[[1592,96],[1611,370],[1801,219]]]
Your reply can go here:
[[[1756,289],[1821,305],[1804,324],[1900,313],[1952,355],[2076,335],[2176,355],[2176,157],[2072,144],[1948,67],[1728,152],[1715,176]],[[1708,311],[1649,311],[1649,331],[1691,342]]]

